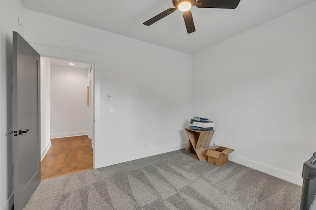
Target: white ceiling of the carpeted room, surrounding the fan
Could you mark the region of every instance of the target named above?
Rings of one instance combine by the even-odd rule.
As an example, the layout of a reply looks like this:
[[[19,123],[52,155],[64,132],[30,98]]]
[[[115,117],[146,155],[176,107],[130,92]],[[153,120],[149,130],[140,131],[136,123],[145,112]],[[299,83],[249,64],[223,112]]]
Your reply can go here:
[[[25,8],[194,54],[315,0],[241,0],[236,9],[191,9],[188,34],[177,10],[152,26],[143,22],[174,7],[172,0],[21,0]]]

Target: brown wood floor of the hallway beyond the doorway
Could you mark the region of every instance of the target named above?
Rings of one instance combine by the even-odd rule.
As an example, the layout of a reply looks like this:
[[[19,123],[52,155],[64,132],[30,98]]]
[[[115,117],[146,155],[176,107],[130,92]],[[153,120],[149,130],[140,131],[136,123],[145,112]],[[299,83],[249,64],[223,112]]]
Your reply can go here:
[[[91,139],[86,135],[51,139],[40,167],[41,180],[92,169]]]

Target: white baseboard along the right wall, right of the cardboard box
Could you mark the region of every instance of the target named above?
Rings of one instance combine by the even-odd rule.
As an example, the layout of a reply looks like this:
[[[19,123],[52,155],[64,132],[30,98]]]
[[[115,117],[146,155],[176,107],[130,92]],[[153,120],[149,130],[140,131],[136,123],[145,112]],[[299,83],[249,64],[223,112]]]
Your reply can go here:
[[[298,184],[300,186],[303,185],[303,178],[298,175],[291,174],[289,172],[285,172],[285,171],[273,168],[271,166],[263,165],[261,163],[254,162],[252,160],[245,159],[243,157],[238,157],[234,154],[229,155],[229,160],[235,163],[238,163],[240,165],[247,166],[249,168],[269,174],[271,176],[277,177],[279,179],[286,180],[294,184]]]

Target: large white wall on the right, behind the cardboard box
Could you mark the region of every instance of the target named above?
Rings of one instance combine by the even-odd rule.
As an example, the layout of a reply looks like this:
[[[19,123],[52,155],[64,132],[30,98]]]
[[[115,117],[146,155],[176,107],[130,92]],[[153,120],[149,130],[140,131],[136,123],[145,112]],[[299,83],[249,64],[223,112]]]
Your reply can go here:
[[[316,151],[316,2],[193,55],[193,114],[231,160],[302,184]]]

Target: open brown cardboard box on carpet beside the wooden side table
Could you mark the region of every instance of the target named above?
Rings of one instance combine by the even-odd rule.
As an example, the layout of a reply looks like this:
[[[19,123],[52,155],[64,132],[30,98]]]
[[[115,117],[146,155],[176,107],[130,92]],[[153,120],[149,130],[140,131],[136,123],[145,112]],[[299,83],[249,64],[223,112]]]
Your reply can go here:
[[[208,148],[206,152],[207,162],[213,165],[222,166],[228,162],[228,155],[233,151],[233,149],[222,146]]]

